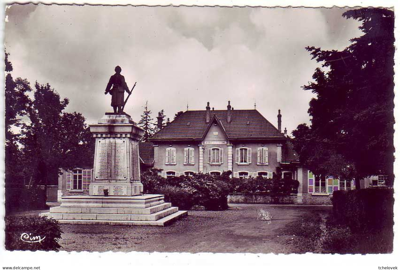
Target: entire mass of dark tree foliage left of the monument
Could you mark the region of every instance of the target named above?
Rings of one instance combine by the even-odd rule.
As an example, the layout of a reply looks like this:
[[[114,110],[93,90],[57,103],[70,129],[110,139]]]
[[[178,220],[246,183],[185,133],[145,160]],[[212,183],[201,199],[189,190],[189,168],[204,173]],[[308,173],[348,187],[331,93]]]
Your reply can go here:
[[[68,99],[49,84],[35,83],[32,91],[26,79],[12,79],[6,54],[6,181],[26,179],[31,185],[56,184],[60,168],[91,164],[94,145],[80,113],[66,113]],[[12,132],[19,127],[19,134]],[[8,145],[8,146],[7,146]],[[18,177],[16,177],[16,175]]]

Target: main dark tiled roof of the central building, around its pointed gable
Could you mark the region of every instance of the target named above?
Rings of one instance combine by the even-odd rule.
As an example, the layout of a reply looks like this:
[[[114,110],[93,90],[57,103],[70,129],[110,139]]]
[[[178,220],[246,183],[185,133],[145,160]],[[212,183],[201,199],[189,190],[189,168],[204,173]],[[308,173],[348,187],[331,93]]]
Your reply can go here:
[[[227,110],[210,111],[210,123],[206,123],[206,110],[202,110],[185,111],[154,134],[150,140],[202,140],[214,115],[230,140],[286,139],[257,110],[232,110],[230,123],[227,121]]]

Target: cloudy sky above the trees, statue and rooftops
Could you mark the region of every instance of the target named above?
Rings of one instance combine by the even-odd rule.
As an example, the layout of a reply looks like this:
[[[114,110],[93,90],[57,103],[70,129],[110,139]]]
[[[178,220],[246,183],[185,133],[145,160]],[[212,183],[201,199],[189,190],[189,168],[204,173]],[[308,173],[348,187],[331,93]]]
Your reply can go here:
[[[360,36],[344,9],[13,5],[5,47],[13,77],[49,83],[88,123],[112,111],[104,89],[114,67],[129,87],[125,111],[137,122],[177,111],[253,109],[282,129],[308,122],[318,63],[306,46],[342,50]]]

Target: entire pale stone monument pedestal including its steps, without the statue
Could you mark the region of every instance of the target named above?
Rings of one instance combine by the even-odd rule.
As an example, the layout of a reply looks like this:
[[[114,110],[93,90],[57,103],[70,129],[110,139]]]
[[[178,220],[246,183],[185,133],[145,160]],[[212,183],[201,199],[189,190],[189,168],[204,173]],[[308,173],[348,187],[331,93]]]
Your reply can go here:
[[[62,197],[61,206],[40,216],[66,224],[165,226],[188,214],[164,202],[164,195],[142,194],[139,139],[143,130],[129,115],[106,113],[90,125],[90,132],[96,138],[90,195]]]

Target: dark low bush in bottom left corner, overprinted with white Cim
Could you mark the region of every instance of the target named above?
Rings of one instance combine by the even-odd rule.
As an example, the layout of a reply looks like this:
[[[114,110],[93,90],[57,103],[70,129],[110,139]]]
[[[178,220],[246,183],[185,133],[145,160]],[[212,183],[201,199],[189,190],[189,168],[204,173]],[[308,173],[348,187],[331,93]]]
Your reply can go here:
[[[62,230],[57,220],[46,216],[8,216],[5,221],[7,250],[58,251],[61,248],[58,240],[61,239]],[[33,243],[22,241],[31,241],[34,236],[40,236],[43,240]]]

